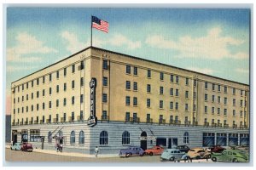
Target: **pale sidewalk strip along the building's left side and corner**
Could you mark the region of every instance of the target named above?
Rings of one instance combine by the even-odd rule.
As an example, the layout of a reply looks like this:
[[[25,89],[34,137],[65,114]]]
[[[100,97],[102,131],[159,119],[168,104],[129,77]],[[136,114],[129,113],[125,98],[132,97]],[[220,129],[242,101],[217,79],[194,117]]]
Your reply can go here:
[[[9,145],[6,145],[5,148],[9,148]],[[58,156],[73,156],[73,157],[91,157],[95,158],[95,155],[89,155],[89,154],[82,154],[77,152],[57,152],[56,150],[41,150],[41,149],[33,149],[34,152],[40,152],[44,154],[52,154],[52,155],[58,155]],[[108,154],[108,155],[98,155],[98,158],[101,157],[118,157],[118,154]]]

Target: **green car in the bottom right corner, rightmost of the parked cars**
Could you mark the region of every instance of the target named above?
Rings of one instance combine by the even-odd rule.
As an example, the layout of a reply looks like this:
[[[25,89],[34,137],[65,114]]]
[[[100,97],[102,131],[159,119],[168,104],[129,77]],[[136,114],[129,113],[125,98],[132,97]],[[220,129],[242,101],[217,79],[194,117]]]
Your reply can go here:
[[[212,153],[212,161],[247,162],[249,154],[241,150],[224,150],[222,153]]]

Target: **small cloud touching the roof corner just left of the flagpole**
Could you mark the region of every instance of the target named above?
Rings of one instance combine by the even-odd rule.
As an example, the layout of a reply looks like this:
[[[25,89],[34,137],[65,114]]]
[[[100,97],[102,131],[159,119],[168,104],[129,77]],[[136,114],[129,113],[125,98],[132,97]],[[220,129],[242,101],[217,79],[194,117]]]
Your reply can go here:
[[[61,37],[66,40],[67,50],[72,54],[86,47],[83,42],[79,42],[77,35],[72,32],[62,31]]]

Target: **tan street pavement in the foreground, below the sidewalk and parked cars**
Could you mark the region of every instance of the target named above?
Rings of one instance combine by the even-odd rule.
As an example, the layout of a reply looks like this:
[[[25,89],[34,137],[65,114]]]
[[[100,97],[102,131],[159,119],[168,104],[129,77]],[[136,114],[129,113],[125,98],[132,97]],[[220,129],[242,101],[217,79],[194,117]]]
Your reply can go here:
[[[173,161],[160,161],[160,156],[134,156],[129,158],[119,157],[75,157],[75,156],[61,156],[61,152],[58,155],[45,154],[40,152],[24,152],[20,150],[5,149],[6,161],[83,161],[83,162],[108,162],[108,163],[124,163],[124,162],[151,162],[151,163],[177,163]],[[195,162],[212,162],[212,160],[193,160]],[[184,161],[180,161],[184,163]],[[187,162],[190,163],[190,162]]]

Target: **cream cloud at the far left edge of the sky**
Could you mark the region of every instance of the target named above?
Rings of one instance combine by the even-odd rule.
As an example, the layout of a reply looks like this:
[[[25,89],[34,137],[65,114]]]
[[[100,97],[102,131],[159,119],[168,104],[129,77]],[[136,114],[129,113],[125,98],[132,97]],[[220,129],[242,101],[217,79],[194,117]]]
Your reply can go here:
[[[42,58],[40,57],[30,57],[28,55],[58,52],[55,48],[44,46],[44,42],[39,41],[36,37],[33,37],[26,32],[19,33],[15,39],[17,45],[12,48],[7,48],[7,61],[9,62],[30,63],[41,61]]]

